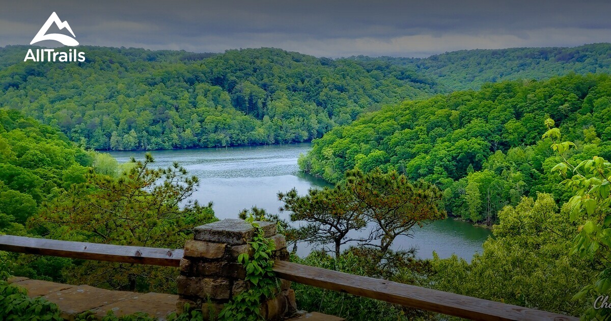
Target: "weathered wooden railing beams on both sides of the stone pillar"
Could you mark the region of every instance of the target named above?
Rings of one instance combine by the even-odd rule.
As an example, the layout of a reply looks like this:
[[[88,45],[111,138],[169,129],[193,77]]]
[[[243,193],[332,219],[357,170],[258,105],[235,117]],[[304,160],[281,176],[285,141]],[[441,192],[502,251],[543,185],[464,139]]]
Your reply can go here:
[[[183,257],[182,249],[68,242],[12,235],[0,235],[0,250],[169,267],[178,267]],[[274,271],[279,278],[288,281],[472,320],[578,320],[563,314],[291,262],[277,261]]]

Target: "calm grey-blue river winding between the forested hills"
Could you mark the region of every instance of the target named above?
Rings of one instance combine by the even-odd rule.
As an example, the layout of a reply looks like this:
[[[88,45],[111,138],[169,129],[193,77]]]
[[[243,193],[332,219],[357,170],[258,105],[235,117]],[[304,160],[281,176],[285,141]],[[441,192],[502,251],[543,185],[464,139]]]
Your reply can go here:
[[[306,153],[310,144],[283,146],[229,147],[218,149],[155,150],[152,155],[155,165],[170,166],[178,161],[191,175],[200,179],[200,187],[193,197],[207,204],[213,202],[214,213],[219,219],[236,218],[243,208],[256,205],[268,212],[277,213],[281,202],[276,198],[279,191],[295,187],[300,194],[309,188],[330,186],[324,180],[299,172],[297,158]],[[145,152],[111,152],[125,163],[130,157],[142,158]],[[281,217],[288,218],[288,213]],[[488,229],[453,220],[434,221],[419,228],[414,227],[414,237],[398,237],[395,249],[415,246],[422,259],[440,257],[453,253],[470,261],[475,252],[481,253],[481,245],[490,235]],[[309,248],[300,245],[298,254],[304,256]]]

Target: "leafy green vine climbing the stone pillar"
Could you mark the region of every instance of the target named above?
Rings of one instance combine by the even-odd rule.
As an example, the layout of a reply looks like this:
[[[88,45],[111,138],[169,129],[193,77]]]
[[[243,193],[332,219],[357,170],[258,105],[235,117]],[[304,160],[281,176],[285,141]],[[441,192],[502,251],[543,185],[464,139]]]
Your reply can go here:
[[[225,304],[219,313],[220,320],[263,320],[260,306],[280,289],[280,281],[274,277],[274,261],[271,259],[275,245],[273,240],[265,238],[265,232],[254,221],[254,216],[246,218],[255,229],[252,242],[252,256],[243,253],[238,256],[238,263],[246,268],[246,285],[240,293],[233,293],[232,300]]]

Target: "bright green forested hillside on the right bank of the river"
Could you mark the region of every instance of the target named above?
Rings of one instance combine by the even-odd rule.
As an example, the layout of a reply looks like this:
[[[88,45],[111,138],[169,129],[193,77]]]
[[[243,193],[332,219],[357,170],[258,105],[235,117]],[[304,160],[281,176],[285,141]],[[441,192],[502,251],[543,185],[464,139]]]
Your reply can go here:
[[[569,161],[611,158],[609,97],[609,75],[568,75],[404,101],[334,128],[299,164],[329,182],[353,168],[396,169],[442,188],[451,215],[493,223],[522,195],[546,192],[567,200],[557,174],[550,174],[562,158],[549,149],[549,139],[541,141],[545,119],[576,142]]]

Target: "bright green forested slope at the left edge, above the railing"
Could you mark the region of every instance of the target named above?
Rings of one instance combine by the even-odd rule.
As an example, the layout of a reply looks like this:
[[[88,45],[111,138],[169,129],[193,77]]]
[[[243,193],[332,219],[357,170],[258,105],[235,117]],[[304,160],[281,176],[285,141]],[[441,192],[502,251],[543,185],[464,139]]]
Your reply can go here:
[[[23,233],[43,202],[84,182],[94,158],[56,129],[0,110],[0,233]]]

